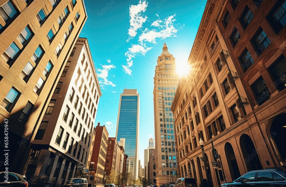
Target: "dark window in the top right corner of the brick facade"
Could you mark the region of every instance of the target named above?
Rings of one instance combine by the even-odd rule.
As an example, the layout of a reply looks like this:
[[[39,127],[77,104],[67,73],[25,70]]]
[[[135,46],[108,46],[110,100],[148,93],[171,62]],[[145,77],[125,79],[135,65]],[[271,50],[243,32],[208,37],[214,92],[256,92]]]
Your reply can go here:
[[[269,13],[268,19],[276,33],[279,33],[286,24],[286,0],[277,1]]]

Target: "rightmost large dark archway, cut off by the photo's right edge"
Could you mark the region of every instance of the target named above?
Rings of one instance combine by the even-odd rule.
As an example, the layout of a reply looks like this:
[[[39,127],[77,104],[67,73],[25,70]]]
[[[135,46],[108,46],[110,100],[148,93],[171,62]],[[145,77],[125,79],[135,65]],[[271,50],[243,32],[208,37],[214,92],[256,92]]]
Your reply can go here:
[[[270,128],[269,137],[272,138],[275,148],[280,156],[279,162],[286,162],[285,134],[286,134],[286,113],[277,116]]]

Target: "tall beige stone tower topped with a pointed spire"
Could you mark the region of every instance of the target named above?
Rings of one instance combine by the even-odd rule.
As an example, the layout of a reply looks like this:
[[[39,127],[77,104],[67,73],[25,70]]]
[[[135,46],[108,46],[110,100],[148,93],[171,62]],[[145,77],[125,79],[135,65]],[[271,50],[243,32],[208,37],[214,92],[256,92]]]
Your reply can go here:
[[[174,115],[171,105],[179,83],[175,58],[166,43],[158,57],[154,76],[154,123],[156,179],[152,184],[166,184],[170,175],[176,178],[177,157],[174,137]]]

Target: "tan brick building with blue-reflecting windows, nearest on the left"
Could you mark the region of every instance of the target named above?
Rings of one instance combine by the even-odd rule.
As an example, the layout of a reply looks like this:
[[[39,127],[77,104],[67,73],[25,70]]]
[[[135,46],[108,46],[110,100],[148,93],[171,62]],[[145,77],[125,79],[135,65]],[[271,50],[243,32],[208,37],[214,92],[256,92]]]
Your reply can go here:
[[[8,120],[9,171],[23,174],[31,144],[87,15],[81,0],[6,0],[0,7],[4,12],[0,17],[0,126],[3,129]]]

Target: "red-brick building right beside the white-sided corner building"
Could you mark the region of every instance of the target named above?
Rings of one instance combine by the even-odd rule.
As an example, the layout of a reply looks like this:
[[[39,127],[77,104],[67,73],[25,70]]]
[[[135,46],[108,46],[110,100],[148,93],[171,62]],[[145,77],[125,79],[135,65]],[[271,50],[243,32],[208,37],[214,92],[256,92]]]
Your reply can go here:
[[[94,144],[96,146],[93,147],[92,157],[90,159],[90,162],[94,162],[91,174],[95,176],[96,184],[103,184],[103,179],[106,179],[106,176],[104,176],[104,166],[106,164],[106,158],[108,156],[108,135],[109,134],[105,125],[100,126],[100,123],[98,123],[96,126],[96,136],[94,140]]]

